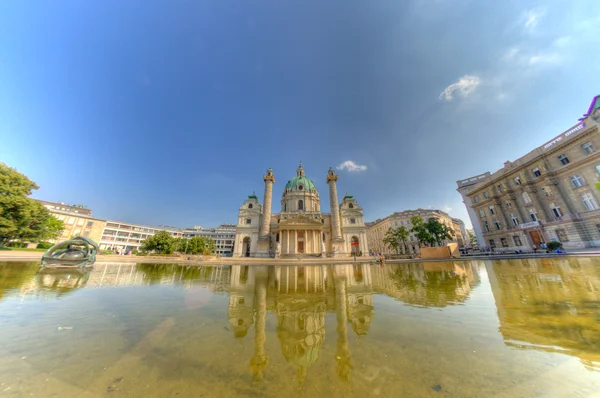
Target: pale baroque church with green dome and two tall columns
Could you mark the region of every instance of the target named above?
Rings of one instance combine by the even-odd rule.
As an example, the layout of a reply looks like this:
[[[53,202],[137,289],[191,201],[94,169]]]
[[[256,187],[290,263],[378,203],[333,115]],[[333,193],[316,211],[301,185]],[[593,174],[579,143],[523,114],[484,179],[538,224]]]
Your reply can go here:
[[[330,168],[330,213],[321,212],[321,198],[314,182],[306,177],[302,162],[281,196],[281,211],[272,212],[275,175],[268,169],[263,177],[263,204],[248,196],[240,207],[234,257],[346,257],[367,255],[367,229],[363,210],[348,194],[340,204],[338,176]]]

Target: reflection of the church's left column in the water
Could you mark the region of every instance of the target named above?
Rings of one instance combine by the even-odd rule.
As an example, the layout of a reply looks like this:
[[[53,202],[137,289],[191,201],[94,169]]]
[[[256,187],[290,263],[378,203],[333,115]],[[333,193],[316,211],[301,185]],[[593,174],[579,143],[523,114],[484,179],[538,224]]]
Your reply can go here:
[[[257,266],[255,277],[256,326],[254,327],[254,356],[250,360],[250,369],[255,380],[262,380],[263,372],[269,360],[265,355],[265,334],[267,315],[267,272],[266,266]]]

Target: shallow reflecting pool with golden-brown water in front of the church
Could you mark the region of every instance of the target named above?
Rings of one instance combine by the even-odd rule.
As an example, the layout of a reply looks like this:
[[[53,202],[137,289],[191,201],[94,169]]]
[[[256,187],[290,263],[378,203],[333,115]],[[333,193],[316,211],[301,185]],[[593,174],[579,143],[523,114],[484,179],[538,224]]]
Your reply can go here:
[[[0,262],[0,396],[598,397],[600,257]]]

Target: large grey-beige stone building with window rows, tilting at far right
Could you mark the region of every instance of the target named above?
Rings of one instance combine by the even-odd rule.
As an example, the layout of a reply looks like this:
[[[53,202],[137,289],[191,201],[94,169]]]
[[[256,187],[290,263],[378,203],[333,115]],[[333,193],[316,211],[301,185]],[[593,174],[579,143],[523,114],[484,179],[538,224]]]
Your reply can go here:
[[[458,181],[479,247],[600,246],[600,96],[575,126],[497,172]]]

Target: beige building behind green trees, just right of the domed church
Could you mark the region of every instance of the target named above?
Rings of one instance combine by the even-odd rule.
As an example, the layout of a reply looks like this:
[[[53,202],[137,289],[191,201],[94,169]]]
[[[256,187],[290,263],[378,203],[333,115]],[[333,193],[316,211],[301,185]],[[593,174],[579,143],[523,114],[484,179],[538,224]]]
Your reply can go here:
[[[430,218],[437,218],[440,223],[446,225],[447,227],[455,231],[454,239],[444,241],[443,243],[447,244],[450,242],[457,242],[455,223],[452,217],[450,217],[447,213],[441,210],[416,209],[396,212],[384,219],[378,219],[374,222],[367,223],[367,240],[369,243],[369,247],[377,253],[396,254],[394,249],[390,248],[383,242],[383,239],[385,238],[385,233],[390,228],[398,228],[400,226],[404,226],[410,231],[412,229],[410,219],[413,216],[419,216],[425,222],[427,222],[427,220],[429,220]],[[460,222],[462,223],[462,221]],[[462,225],[462,228],[464,228],[464,223]],[[406,252],[404,252],[404,248],[401,248],[400,251],[404,254],[420,253],[419,241],[415,237],[414,233],[410,233],[408,241],[406,242]]]

